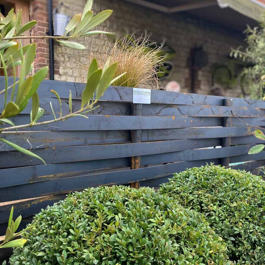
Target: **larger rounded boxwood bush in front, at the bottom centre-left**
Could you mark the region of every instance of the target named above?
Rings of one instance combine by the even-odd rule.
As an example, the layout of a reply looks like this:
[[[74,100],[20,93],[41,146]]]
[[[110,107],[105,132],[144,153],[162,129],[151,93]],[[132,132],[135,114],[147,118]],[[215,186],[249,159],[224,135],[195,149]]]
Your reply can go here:
[[[89,188],[38,213],[10,264],[231,264],[200,213],[151,188]]]

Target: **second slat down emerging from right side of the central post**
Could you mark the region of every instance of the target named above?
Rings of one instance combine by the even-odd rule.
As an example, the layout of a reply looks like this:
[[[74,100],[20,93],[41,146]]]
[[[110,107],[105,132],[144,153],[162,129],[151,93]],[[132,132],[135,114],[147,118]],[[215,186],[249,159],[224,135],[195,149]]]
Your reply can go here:
[[[177,128],[142,131],[143,141],[222,138],[252,135],[255,127]]]

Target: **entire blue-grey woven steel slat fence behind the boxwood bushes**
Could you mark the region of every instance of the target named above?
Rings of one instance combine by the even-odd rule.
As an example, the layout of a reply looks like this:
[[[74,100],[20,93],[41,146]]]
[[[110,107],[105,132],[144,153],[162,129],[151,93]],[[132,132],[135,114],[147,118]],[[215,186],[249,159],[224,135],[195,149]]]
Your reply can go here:
[[[11,83],[11,79],[9,80]],[[3,87],[3,79],[0,79]],[[50,89],[62,97],[63,114],[81,105],[84,84],[44,81],[40,104],[42,121],[52,119],[49,106],[59,115],[59,104]],[[10,97],[10,95],[9,95]],[[1,105],[4,95],[0,95]],[[13,118],[28,123],[31,106]],[[265,102],[241,98],[152,90],[151,104],[133,106],[132,88],[109,87],[99,107],[84,117],[73,117],[1,137],[31,149],[47,163],[0,147],[0,235],[5,233],[11,206],[22,226],[41,208],[65,198],[70,191],[113,184],[157,187],[172,173],[206,163],[230,165],[259,174],[265,152],[248,155],[262,141],[252,132],[265,126]],[[222,148],[209,148],[222,146]],[[238,162],[245,162],[235,165]],[[232,164],[231,164],[232,163]]]

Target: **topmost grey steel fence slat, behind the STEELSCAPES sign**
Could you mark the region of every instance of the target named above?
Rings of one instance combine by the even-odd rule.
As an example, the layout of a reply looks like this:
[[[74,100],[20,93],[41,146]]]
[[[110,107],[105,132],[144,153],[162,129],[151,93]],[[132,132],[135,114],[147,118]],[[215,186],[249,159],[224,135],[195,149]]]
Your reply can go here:
[[[13,77],[9,77],[9,85],[13,83]],[[0,86],[4,87],[4,77],[0,77]],[[60,97],[68,98],[69,90],[72,92],[72,98],[81,99],[85,84],[64,81],[43,80],[39,86],[38,94],[44,97],[55,97],[50,90],[56,90]],[[11,90],[8,91],[11,94]],[[223,98],[211,95],[198,95],[191,93],[178,93],[170,91],[152,90],[151,102],[162,104],[182,104],[182,105],[215,105],[222,106]],[[101,100],[132,102],[131,87],[112,87],[110,86]],[[265,109],[263,100],[246,100],[243,98],[234,98],[235,107],[251,107]]]

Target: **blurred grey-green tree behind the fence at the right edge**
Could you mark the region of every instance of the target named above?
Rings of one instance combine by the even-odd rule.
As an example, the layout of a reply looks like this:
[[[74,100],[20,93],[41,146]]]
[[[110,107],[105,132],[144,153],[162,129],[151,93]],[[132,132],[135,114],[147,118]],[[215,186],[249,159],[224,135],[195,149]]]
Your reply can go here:
[[[248,26],[244,33],[246,33],[247,48],[244,51],[240,47],[232,50],[231,56],[252,64],[244,69],[244,73],[251,78],[251,98],[262,99],[265,93],[264,80],[261,80],[265,74],[265,16],[260,21],[259,27],[251,29]]]

